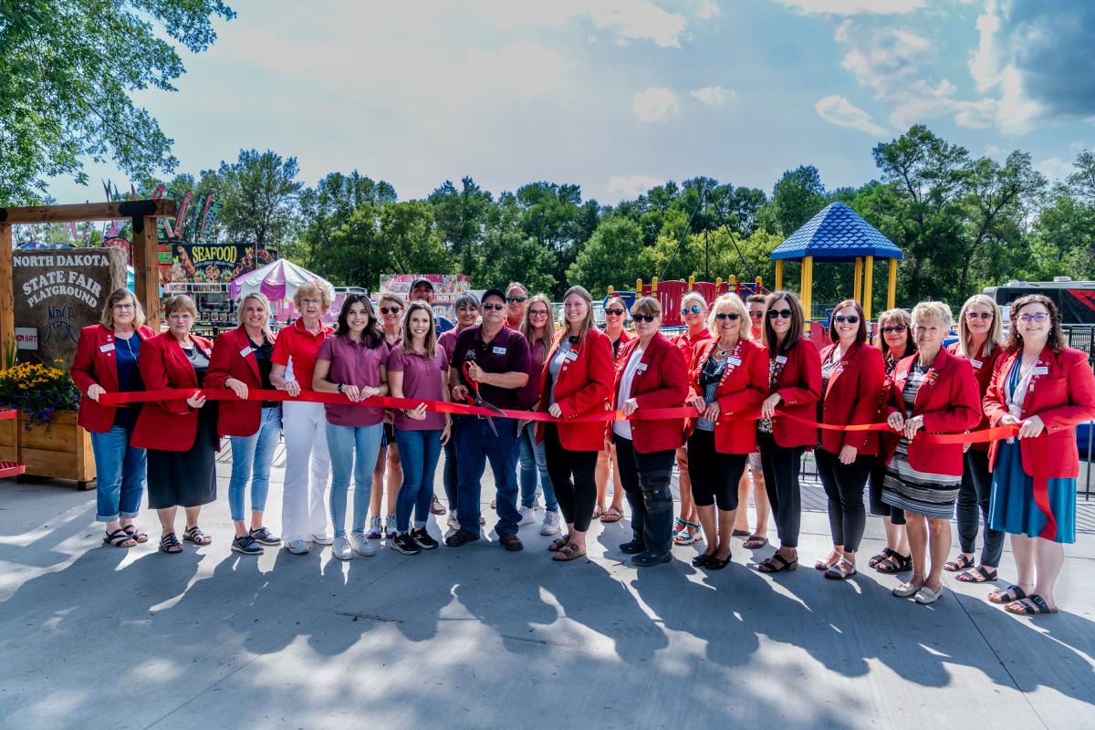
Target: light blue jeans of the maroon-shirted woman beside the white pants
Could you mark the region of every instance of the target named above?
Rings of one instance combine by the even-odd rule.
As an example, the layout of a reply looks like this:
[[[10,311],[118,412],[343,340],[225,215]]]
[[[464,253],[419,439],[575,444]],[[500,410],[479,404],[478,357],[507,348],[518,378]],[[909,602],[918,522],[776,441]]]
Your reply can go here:
[[[331,454],[331,522],[335,537],[346,534],[346,494],[354,477],[354,526],[365,532],[372,494],[372,467],[380,453],[384,425],[334,426],[327,424],[327,452]]]

